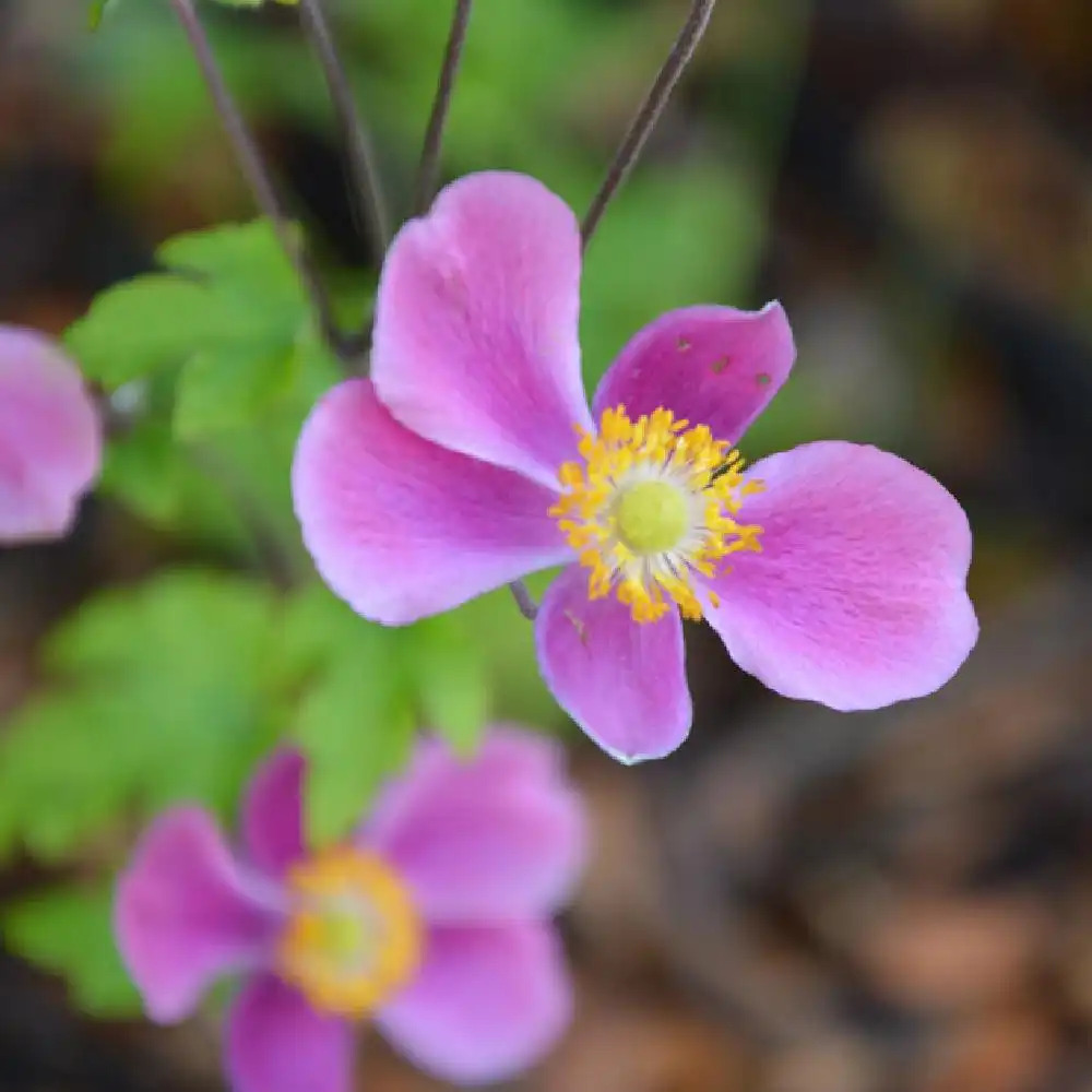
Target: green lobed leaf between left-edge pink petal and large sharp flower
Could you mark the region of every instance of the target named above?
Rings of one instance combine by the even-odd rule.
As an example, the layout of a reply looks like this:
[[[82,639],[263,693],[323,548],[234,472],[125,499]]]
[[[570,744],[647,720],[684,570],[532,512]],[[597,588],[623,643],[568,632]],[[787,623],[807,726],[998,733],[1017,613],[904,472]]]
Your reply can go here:
[[[158,259],[66,335],[88,378],[143,403],[111,437],[103,489],[166,531],[252,553],[257,532],[301,565],[292,453],[340,370],[295,271],[264,221],[179,236]]]

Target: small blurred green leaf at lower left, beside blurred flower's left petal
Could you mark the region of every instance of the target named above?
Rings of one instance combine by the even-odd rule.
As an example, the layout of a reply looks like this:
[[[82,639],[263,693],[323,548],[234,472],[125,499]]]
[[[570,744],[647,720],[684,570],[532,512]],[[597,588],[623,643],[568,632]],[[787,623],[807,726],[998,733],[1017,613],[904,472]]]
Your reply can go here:
[[[5,906],[4,943],[24,959],[62,974],[73,999],[99,1017],[131,1017],[140,997],[114,942],[109,887],[59,888]]]

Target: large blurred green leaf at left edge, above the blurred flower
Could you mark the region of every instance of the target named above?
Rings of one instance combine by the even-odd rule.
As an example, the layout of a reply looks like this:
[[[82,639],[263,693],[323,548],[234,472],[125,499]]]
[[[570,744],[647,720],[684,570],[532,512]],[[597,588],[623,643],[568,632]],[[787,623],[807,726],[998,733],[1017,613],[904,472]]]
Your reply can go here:
[[[232,814],[287,719],[280,610],[265,585],[201,570],[84,603],[45,648],[58,685],[0,739],[0,852],[63,859],[133,806]]]

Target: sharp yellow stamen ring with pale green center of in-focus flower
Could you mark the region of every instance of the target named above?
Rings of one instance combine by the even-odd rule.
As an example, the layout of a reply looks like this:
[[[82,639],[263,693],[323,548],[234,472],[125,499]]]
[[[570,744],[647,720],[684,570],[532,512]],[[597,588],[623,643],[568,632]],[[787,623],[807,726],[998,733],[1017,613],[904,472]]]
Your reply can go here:
[[[762,548],[762,529],[736,519],[762,483],[744,478],[743,456],[705,425],[669,410],[630,420],[618,406],[604,411],[597,435],[578,432],[582,462],[559,471],[549,514],[590,570],[589,597],[614,592],[639,622],[673,603],[697,621],[695,574],[711,578],[727,555]],[[704,596],[717,605],[714,592]]]

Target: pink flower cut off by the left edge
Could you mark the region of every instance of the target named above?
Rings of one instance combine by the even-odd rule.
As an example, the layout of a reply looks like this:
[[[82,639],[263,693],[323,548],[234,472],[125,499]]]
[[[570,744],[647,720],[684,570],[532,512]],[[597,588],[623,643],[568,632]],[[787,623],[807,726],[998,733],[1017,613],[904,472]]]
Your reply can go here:
[[[41,334],[0,327],[0,543],[66,535],[102,444],[75,365]]]

